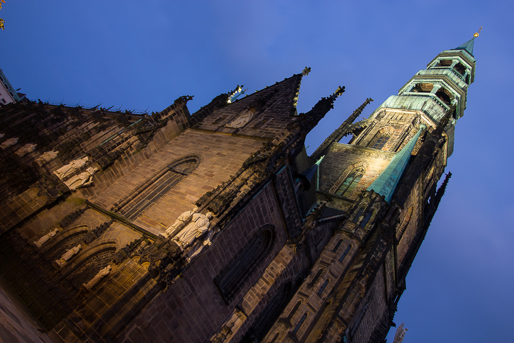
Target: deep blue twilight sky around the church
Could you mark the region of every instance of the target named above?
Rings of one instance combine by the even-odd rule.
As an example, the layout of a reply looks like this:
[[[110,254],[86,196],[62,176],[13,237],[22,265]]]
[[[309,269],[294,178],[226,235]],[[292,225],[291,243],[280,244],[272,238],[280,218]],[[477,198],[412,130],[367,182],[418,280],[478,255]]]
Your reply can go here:
[[[453,177],[394,321],[405,343],[511,342],[512,13],[514,2],[474,0],[6,0],[0,67],[29,99],[160,111],[194,95],[193,113],[237,84],[253,92],[309,66],[298,112],[346,86],[307,137],[311,153],[366,97],[367,117],[482,25]]]

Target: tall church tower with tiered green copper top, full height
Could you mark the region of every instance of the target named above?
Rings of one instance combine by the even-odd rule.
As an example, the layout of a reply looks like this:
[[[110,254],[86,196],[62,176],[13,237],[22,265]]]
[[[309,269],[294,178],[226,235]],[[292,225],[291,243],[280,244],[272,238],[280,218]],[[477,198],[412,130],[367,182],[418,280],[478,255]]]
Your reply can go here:
[[[311,155],[327,206],[318,223],[338,224],[265,342],[384,341],[451,176],[437,189],[474,81],[476,37],[439,53],[353,123],[367,99]]]

